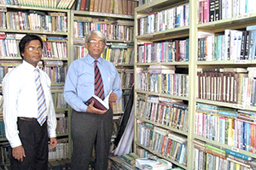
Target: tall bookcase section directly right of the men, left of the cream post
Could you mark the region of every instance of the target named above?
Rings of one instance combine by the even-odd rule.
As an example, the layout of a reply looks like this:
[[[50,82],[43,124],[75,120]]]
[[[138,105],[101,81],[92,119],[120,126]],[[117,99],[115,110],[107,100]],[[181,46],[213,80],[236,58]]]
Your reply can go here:
[[[191,3],[148,1],[135,8],[134,149],[141,156],[154,154],[183,169],[193,167],[189,161],[194,91],[190,86],[194,69]],[[175,11],[184,20],[167,21],[165,17]],[[183,118],[177,122],[179,116]]]

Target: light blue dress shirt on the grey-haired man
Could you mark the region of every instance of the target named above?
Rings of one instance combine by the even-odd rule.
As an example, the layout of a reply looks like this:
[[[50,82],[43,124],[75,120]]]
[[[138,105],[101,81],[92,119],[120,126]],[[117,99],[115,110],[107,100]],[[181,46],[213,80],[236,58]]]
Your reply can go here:
[[[94,65],[95,59],[88,54],[76,59],[68,67],[64,88],[64,98],[75,111],[87,110],[84,101],[94,94]],[[105,97],[113,90],[118,95],[117,103],[121,99],[121,81],[113,63],[106,59],[97,59],[97,66],[102,74]]]

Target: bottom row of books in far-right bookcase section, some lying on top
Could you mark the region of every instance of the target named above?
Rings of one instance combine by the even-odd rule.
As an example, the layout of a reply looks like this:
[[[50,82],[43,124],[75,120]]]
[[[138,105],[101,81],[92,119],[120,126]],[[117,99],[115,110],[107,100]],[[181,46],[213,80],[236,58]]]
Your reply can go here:
[[[194,152],[194,169],[196,170],[251,170],[256,167],[256,161],[250,156],[234,150],[218,148],[200,140],[194,139]]]

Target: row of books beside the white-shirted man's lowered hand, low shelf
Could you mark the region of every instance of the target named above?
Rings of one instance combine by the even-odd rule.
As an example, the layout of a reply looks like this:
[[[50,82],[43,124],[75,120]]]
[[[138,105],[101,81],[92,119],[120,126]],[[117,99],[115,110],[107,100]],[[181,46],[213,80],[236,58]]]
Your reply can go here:
[[[68,157],[68,139],[57,139],[58,144],[49,150],[49,159],[63,159]]]

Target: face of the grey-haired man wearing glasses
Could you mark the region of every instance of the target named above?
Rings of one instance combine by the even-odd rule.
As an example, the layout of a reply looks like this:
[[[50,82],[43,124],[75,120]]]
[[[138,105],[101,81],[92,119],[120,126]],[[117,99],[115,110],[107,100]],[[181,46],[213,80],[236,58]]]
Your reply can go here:
[[[88,49],[88,53],[94,59],[101,57],[105,47],[106,44],[104,43],[104,40],[100,37],[97,37],[96,34],[91,34],[89,42],[85,43],[85,48]]]

